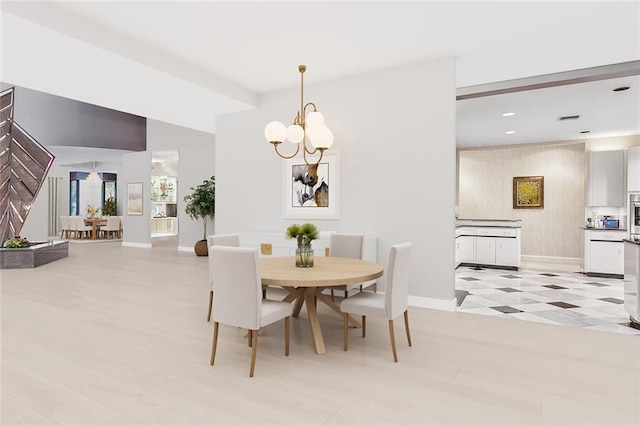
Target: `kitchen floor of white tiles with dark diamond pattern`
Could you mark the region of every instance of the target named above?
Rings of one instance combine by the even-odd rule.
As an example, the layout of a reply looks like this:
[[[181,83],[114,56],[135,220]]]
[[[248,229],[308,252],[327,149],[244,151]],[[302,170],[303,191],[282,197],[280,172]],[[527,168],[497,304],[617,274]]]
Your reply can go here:
[[[623,280],[615,278],[537,269],[456,270],[461,312],[640,336],[630,325],[623,297]]]

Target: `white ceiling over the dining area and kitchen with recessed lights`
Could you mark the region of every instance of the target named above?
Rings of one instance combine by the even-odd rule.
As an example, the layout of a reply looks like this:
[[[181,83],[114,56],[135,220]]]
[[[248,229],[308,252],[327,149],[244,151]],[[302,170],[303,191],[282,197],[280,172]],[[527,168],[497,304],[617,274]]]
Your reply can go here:
[[[470,93],[480,85],[636,61],[631,76],[458,101],[457,135],[459,147],[475,147],[640,134],[639,2],[4,1],[1,7],[254,105],[262,93],[297,87],[301,63],[309,67],[306,84],[313,84],[455,56],[458,87]],[[631,88],[612,92],[620,85]],[[507,111],[516,115],[502,117]],[[580,119],[558,122],[562,115]]]

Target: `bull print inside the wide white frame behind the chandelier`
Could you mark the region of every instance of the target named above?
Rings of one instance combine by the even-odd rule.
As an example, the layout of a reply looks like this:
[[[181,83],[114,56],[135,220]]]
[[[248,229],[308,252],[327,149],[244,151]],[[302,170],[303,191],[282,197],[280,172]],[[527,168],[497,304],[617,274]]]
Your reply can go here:
[[[329,207],[329,164],[291,166],[291,206]]]

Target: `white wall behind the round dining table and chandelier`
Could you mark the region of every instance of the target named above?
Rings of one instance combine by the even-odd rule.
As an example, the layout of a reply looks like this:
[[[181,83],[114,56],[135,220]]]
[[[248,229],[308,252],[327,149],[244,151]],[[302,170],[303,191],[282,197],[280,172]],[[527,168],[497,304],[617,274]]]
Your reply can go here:
[[[312,220],[322,230],[378,237],[389,247],[414,244],[410,294],[454,307],[455,61],[391,68],[313,85],[314,102],[333,130],[341,165],[340,219]],[[311,83],[310,83],[311,82]],[[283,232],[301,220],[282,217],[282,161],[263,136],[288,122],[299,88],[263,97],[255,111],[217,117],[216,231]]]

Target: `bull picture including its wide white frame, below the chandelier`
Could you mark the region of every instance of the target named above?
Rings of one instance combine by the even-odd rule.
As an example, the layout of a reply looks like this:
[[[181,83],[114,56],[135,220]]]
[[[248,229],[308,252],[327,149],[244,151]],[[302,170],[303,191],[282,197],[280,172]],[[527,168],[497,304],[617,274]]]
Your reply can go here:
[[[318,165],[308,165],[302,157],[283,164],[285,219],[339,219],[337,154],[325,154]]]

